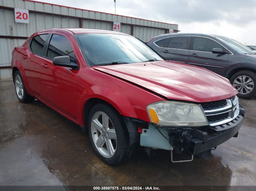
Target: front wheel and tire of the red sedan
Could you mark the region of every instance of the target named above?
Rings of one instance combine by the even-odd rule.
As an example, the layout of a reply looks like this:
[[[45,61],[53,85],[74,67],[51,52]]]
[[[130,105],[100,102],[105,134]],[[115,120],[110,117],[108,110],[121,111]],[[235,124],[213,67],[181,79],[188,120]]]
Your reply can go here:
[[[106,117],[109,118],[108,125],[105,125],[107,124],[106,122],[102,122],[102,119],[104,120]],[[117,165],[127,160],[131,155],[131,147],[129,145],[128,130],[120,114],[110,105],[98,103],[91,108],[88,119],[88,132],[91,145],[98,157],[109,165]],[[108,126],[109,129],[105,126]],[[113,138],[115,137],[112,134],[114,131],[116,133],[116,139]],[[99,147],[98,145],[96,146],[97,141],[99,143],[98,145],[100,145]],[[109,147],[107,147],[107,143],[110,145]],[[103,145],[102,148],[101,145]],[[109,152],[108,148],[112,148],[110,150],[115,151]]]

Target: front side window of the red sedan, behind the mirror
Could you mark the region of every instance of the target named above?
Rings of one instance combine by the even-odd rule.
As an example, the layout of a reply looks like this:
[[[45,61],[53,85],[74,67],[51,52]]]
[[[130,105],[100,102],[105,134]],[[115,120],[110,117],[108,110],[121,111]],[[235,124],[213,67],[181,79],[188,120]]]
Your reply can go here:
[[[53,59],[56,56],[69,56],[70,62],[74,62],[74,52],[66,37],[53,34],[47,50],[47,57]]]

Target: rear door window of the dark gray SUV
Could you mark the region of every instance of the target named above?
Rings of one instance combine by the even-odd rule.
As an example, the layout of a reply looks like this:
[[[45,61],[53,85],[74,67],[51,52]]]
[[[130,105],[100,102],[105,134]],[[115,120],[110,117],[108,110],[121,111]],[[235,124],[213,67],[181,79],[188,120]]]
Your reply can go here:
[[[188,44],[191,37],[172,37],[168,48],[188,50]]]

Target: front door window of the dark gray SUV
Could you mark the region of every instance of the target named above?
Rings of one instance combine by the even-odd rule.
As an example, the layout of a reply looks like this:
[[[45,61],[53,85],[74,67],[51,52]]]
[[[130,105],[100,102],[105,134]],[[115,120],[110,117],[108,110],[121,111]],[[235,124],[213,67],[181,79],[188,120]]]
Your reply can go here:
[[[221,48],[224,51],[227,51],[227,49],[214,40],[204,37],[194,37],[192,50],[211,53],[213,48]]]

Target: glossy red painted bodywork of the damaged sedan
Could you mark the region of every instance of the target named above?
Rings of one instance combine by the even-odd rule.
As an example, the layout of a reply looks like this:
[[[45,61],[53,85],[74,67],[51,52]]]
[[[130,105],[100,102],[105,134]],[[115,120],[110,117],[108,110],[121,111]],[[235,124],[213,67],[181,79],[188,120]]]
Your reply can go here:
[[[28,40],[45,33],[60,34],[68,39],[78,61],[78,70],[55,66],[51,59],[30,51]],[[181,63],[161,61],[87,66],[73,33],[116,32],[89,29],[37,32],[23,46],[14,49],[12,69],[16,67],[20,70],[29,94],[81,126],[85,126],[84,105],[91,98],[105,100],[123,116],[150,122],[146,106],[165,100],[165,97],[208,102],[237,94],[225,78],[206,69]]]

